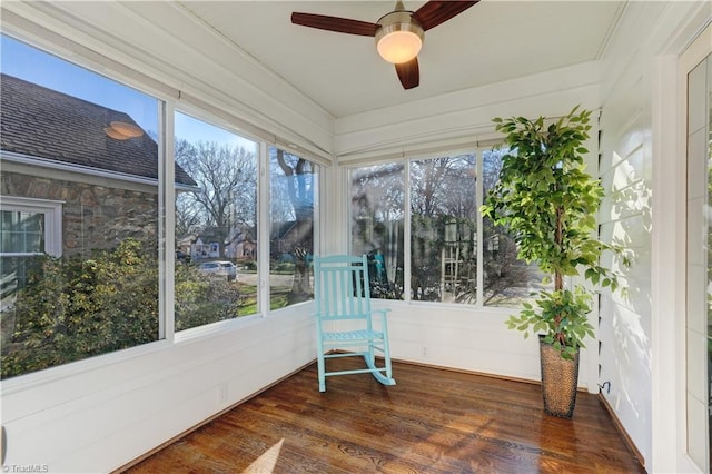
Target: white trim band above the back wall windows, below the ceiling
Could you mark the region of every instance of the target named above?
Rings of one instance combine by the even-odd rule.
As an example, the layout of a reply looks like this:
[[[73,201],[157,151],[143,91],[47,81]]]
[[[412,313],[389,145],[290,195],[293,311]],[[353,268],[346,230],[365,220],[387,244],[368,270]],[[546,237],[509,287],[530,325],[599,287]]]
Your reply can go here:
[[[337,120],[334,152],[342,164],[428,144],[491,142],[492,118],[557,117],[581,105],[600,108],[599,62],[448,93]]]

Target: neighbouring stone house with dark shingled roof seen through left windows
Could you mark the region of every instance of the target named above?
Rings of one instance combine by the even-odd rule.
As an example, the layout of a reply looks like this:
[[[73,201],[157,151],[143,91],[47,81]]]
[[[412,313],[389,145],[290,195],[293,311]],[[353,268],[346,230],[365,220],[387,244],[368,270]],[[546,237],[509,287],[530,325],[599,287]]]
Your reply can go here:
[[[125,112],[8,75],[0,99],[3,231],[11,226],[28,243],[3,253],[73,255],[128,237],[157,248],[158,145],[147,130]],[[178,165],[175,182],[196,186]]]

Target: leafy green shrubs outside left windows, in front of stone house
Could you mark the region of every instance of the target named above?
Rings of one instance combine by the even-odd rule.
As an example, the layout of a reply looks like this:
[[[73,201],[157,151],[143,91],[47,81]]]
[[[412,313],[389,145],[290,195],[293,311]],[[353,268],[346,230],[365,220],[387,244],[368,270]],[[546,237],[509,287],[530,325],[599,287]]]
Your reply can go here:
[[[91,258],[37,257],[17,294],[1,378],[158,339],[158,260],[136,239]],[[176,330],[237,317],[237,284],[176,266]],[[4,333],[4,327],[3,327]]]

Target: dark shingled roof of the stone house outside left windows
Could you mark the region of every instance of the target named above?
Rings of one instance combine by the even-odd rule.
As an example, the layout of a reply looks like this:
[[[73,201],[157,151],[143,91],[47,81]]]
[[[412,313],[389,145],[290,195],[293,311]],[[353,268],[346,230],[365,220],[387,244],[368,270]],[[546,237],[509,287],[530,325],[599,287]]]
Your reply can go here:
[[[138,125],[125,112],[0,75],[0,149],[83,167],[158,179],[158,145],[146,134],[109,138],[111,121]],[[176,182],[196,181],[176,164]]]

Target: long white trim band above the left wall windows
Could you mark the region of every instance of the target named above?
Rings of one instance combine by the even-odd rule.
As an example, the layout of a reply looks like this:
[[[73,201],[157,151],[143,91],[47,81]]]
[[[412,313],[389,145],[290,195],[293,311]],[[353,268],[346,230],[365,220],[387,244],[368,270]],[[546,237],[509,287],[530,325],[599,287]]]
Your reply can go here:
[[[2,9],[3,30],[21,39],[97,72],[128,78],[159,98],[195,97],[296,148],[332,158],[333,117],[178,4],[6,2]],[[186,37],[160,28],[167,23],[179,24]],[[58,48],[56,36],[70,41]],[[86,58],[83,48],[93,57]]]

